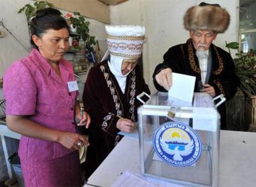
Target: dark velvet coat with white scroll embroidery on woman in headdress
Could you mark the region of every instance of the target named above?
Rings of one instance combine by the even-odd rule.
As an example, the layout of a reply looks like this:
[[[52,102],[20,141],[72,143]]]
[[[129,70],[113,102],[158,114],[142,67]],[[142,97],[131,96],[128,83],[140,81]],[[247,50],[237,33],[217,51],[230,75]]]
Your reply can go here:
[[[121,137],[117,135],[119,129],[116,128],[118,116],[137,121],[137,108],[141,103],[136,97],[142,92],[150,94],[139,65],[127,76],[124,94],[109,70],[107,60],[90,70],[83,91],[83,104],[92,118],[88,129],[90,146],[85,177],[94,172],[120,140]]]

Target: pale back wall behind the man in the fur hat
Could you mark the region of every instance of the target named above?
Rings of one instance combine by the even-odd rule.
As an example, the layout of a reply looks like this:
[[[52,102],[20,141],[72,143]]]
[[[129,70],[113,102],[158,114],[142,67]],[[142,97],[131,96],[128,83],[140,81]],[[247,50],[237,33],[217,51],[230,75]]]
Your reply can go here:
[[[202,1],[192,0],[129,0],[116,6],[110,6],[111,24],[143,25],[146,27],[146,43],[143,48],[143,73],[145,81],[155,92],[152,74],[155,66],[163,61],[169,47],[184,43],[189,33],[183,28],[183,16],[186,10]],[[225,49],[225,41],[237,41],[239,0],[208,0],[218,3],[228,10],[231,24],[224,34],[219,34],[214,44]],[[226,49],[225,49],[226,50]]]

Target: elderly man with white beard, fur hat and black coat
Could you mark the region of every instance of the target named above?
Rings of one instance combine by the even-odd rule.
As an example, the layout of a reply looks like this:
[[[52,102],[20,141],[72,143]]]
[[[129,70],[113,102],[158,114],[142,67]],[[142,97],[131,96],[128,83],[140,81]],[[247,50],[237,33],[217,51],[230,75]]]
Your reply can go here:
[[[171,73],[195,76],[194,92],[205,92],[215,97],[224,94],[227,99],[236,94],[239,78],[231,55],[212,42],[218,33],[229,26],[229,14],[218,4],[190,7],[184,15],[184,27],[190,39],[185,44],[171,47],[164,54],[164,61],[156,66],[153,81],[156,89],[166,92],[172,85]],[[181,90],[182,92],[182,90]],[[226,109],[218,107],[221,129],[226,129]]]

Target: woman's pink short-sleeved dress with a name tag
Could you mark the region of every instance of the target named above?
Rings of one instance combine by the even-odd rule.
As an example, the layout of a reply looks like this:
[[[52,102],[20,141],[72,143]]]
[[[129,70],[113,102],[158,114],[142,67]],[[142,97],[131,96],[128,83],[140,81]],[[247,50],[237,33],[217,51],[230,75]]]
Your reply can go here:
[[[14,62],[4,74],[6,114],[22,115],[51,129],[76,132],[75,98],[67,82],[74,81],[72,65],[59,61],[60,79],[38,50]],[[78,151],[59,143],[22,136],[19,156],[26,186],[80,186]]]

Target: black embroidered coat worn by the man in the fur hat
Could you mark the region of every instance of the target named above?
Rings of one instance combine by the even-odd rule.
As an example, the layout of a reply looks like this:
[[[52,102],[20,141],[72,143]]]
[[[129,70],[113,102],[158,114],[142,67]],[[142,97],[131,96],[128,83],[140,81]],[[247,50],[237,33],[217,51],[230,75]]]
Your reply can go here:
[[[231,55],[221,49],[220,47],[211,44],[211,74],[208,84],[214,87],[216,96],[224,94],[226,99],[233,98],[237,91],[237,86],[240,81],[236,75],[234,68],[234,61]],[[194,92],[199,92],[201,82],[201,71],[198,63],[196,50],[192,44],[192,40],[188,39],[186,44],[179,44],[171,47],[166,54],[164,54],[164,61],[156,66],[153,74],[153,82],[155,87],[160,92],[166,92],[155,80],[158,74],[164,68],[171,68],[175,73],[188,74],[195,76]],[[182,90],[181,90],[182,92]],[[226,129],[226,109],[225,105],[220,105],[218,111],[221,114],[221,129]]]

